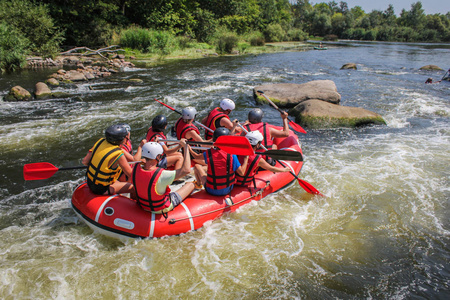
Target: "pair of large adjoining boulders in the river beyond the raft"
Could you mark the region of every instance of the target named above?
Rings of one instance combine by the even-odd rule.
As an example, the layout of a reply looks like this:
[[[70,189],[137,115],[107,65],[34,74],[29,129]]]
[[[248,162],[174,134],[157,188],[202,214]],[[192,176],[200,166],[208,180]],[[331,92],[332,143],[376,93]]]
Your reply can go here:
[[[280,83],[257,86],[253,94],[257,102],[267,100],[277,106],[291,108],[289,114],[298,124],[308,128],[356,127],[386,124],[377,113],[359,107],[339,105],[341,95],[331,80],[315,80],[303,84]]]

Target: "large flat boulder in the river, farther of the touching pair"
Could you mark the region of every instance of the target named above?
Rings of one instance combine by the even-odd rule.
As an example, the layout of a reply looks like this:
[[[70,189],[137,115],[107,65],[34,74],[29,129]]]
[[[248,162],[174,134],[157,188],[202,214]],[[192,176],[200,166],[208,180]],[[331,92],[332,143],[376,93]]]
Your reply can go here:
[[[264,84],[253,89],[256,101],[267,103],[267,100],[259,95],[264,94],[280,107],[294,107],[302,101],[316,99],[330,103],[339,103],[341,95],[337,92],[336,84],[331,80],[315,80],[307,83],[277,83]]]

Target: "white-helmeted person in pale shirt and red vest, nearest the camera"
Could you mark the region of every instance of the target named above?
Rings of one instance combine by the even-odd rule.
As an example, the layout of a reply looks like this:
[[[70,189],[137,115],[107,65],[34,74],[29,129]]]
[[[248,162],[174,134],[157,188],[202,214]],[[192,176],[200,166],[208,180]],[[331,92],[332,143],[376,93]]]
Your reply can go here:
[[[190,172],[191,159],[186,139],[181,139],[180,144],[185,148],[184,161],[182,167],[174,171],[164,170],[157,166],[164,153],[159,143],[148,142],[142,147],[144,165],[136,164],[132,171],[135,198],[142,209],[166,215],[194,190],[194,182],[185,183],[175,192],[172,192],[169,187],[174,180],[184,177]]]

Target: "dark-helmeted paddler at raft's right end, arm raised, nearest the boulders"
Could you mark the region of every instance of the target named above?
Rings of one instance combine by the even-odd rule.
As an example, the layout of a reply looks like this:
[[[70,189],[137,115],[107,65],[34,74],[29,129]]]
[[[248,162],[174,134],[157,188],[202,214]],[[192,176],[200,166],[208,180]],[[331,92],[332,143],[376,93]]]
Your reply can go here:
[[[281,119],[283,120],[283,129],[279,130],[270,126],[269,123],[263,122],[262,118],[264,116],[263,111],[260,108],[254,108],[248,112],[248,120],[245,121],[243,126],[247,131],[258,130],[263,135],[263,145],[268,150],[276,149],[276,145],[273,144],[273,138],[283,138],[289,136],[289,124],[288,124],[288,113],[281,112]],[[242,134],[243,135],[243,134]],[[275,165],[275,161],[268,158],[267,161],[271,165]]]

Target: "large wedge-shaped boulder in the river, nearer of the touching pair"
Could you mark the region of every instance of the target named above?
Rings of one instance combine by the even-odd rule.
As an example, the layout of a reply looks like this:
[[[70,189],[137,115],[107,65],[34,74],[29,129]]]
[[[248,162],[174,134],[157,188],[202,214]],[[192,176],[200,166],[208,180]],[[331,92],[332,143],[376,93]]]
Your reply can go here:
[[[357,127],[386,124],[383,117],[364,108],[308,100],[289,111],[297,123],[308,128]]]

